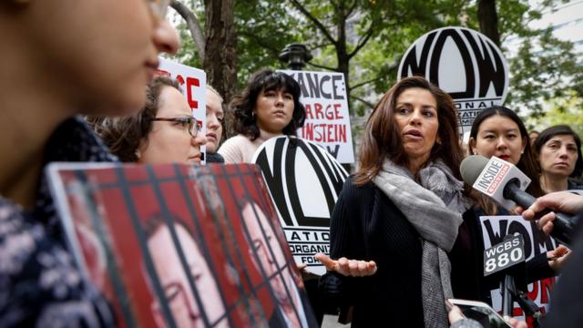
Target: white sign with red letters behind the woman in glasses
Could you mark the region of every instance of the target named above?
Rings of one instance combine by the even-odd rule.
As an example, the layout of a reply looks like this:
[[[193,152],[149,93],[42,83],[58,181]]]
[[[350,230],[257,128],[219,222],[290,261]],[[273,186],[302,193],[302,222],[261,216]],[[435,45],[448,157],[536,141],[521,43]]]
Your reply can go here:
[[[182,95],[186,97],[186,100],[189,102],[189,107],[192,109],[192,115],[199,121],[202,127],[199,133],[206,135],[207,108],[205,92],[207,90],[207,73],[202,69],[188,67],[162,57],[159,57],[159,61],[160,65],[157,73],[176,79],[179,82]],[[200,147],[203,164],[206,163],[206,149],[206,146]]]

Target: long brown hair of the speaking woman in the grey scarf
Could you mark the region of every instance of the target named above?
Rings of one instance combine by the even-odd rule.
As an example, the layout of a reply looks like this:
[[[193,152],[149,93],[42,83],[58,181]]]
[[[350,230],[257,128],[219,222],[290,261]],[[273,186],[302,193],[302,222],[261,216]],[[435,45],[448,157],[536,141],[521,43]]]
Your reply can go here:
[[[383,168],[384,159],[391,159],[401,166],[408,164],[409,159],[404,152],[403,140],[394,121],[394,108],[397,97],[411,87],[429,91],[437,103],[439,122],[437,135],[442,142],[441,144],[435,142],[430,158],[442,159],[452,170],[455,178],[462,179],[459,165],[463,159],[463,151],[459,143],[458,119],[452,98],[424,77],[405,77],[384,94],[366,121],[360,165],[353,178],[356,185],[363,185],[373,179]]]

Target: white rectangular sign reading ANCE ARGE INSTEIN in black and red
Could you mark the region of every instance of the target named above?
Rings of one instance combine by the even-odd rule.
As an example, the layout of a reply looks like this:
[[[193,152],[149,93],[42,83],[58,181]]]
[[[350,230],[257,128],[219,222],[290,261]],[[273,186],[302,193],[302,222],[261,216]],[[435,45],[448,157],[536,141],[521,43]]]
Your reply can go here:
[[[281,70],[302,90],[306,120],[298,137],[328,150],[341,163],[354,162],[353,135],[342,73]]]

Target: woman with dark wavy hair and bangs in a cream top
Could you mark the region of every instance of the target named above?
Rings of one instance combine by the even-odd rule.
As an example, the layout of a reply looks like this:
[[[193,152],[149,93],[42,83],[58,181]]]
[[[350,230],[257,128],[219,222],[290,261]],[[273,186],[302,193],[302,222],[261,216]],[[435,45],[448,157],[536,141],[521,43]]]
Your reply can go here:
[[[303,125],[305,108],[300,85],[290,76],[269,69],[251,77],[243,93],[233,98],[233,131],[219,149],[227,164],[251,163],[255,151],[269,138],[295,136]]]

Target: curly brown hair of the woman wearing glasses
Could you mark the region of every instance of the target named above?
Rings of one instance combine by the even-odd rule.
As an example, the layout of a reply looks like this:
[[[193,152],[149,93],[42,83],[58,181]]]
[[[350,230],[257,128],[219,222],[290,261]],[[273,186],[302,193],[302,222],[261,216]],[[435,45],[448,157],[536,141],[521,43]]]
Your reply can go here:
[[[121,161],[138,161],[136,150],[142,139],[148,140],[152,119],[158,114],[159,96],[163,87],[174,87],[180,91],[176,80],[164,76],[155,77],[146,90],[146,105],[138,113],[124,118],[87,117],[91,128]]]

